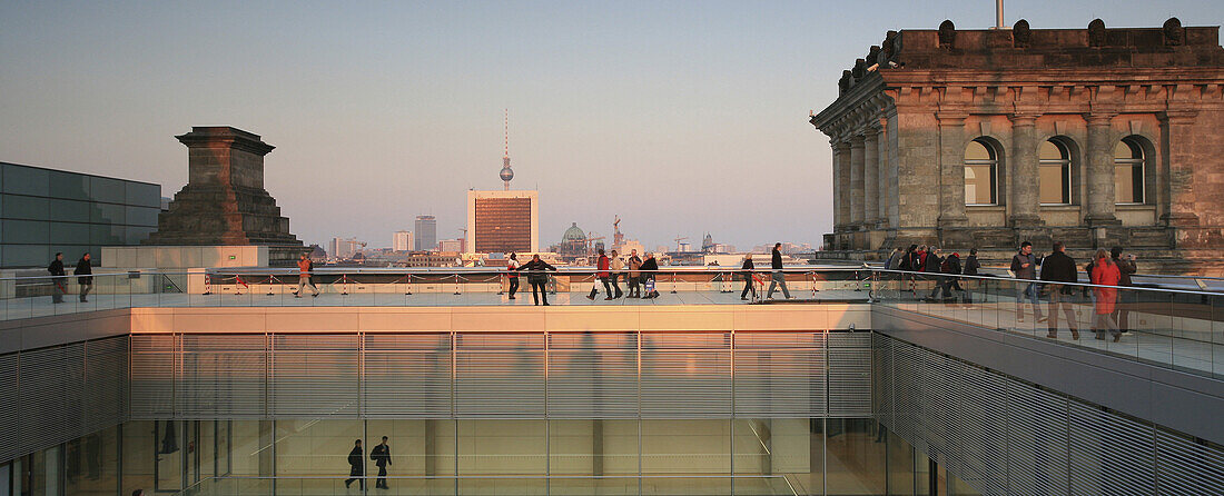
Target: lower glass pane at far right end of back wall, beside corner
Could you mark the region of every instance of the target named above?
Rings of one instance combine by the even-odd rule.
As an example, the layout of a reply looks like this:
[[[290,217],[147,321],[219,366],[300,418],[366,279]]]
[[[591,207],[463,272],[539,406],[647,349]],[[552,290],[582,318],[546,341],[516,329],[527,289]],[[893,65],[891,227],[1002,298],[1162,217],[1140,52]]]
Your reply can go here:
[[[827,419],[825,446],[829,494],[885,492],[886,445],[873,419]]]

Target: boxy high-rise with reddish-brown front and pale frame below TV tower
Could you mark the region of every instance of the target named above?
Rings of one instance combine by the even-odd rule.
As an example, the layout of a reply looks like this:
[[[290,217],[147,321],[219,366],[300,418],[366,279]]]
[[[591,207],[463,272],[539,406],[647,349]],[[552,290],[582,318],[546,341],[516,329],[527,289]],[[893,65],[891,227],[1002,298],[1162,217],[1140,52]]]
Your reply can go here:
[[[535,252],[537,191],[468,191],[469,254]]]

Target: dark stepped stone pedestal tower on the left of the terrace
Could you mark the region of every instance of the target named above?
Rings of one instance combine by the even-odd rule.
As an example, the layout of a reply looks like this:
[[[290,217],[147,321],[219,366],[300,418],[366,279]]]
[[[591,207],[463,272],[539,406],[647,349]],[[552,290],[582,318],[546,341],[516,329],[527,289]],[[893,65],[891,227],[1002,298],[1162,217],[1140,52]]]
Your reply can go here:
[[[175,137],[187,146],[187,185],[146,245],[266,245],[273,266],[290,265],[306,250],[263,189],[263,156],[273,146],[228,126],[192,127]]]

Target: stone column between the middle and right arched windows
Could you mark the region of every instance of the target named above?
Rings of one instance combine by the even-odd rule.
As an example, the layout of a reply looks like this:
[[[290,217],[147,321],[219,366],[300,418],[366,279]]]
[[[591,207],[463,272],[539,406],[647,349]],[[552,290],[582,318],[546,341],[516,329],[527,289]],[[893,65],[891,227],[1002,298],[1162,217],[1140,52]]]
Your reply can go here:
[[[1084,154],[1084,174],[1088,184],[1089,227],[1114,225],[1116,195],[1114,192],[1114,146],[1110,124],[1113,114],[1088,114],[1088,146]],[[1098,235],[1098,238],[1100,238]]]

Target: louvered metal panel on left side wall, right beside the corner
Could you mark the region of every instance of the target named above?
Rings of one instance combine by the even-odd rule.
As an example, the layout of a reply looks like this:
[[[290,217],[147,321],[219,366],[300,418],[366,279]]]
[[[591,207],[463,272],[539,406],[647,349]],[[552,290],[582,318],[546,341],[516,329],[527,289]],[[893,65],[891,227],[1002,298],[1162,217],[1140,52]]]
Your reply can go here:
[[[127,416],[127,337],[86,343],[84,432],[124,421]]]

